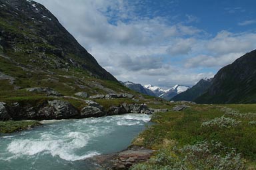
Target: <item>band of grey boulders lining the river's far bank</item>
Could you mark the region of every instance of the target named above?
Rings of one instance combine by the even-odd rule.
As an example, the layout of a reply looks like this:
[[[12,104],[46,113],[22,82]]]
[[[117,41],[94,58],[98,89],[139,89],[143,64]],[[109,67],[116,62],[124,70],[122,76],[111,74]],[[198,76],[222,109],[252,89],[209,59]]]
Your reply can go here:
[[[29,88],[28,91],[46,92],[47,94],[57,94],[47,100],[37,103],[29,102],[0,102],[0,120],[60,120],[69,118],[91,118],[110,116],[116,114],[152,114],[153,112],[167,112],[167,110],[150,109],[147,104],[138,104],[133,101],[132,94],[106,94],[90,96],[90,100],[82,100],[85,104],[82,108],[75,108],[70,102],[64,100],[66,98],[74,98],[72,96],[61,96],[61,94],[51,90],[50,88]],[[84,93],[81,94],[86,96]],[[55,99],[56,98],[56,99]],[[128,98],[129,104],[111,104],[111,106],[101,106],[95,100],[101,98],[106,102],[116,98]],[[77,98],[76,98],[77,99]],[[110,101],[111,102],[111,101]]]

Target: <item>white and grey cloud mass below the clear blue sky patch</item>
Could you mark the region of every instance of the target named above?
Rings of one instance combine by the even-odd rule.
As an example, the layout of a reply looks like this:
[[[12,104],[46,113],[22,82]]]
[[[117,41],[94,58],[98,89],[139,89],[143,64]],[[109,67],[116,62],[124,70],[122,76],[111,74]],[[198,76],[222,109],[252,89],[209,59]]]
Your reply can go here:
[[[205,31],[191,25],[199,21],[193,15],[186,15],[179,23],[157,15],[137,16],[137,6],[131,1],[36,1],[43,3],[118,80],[191,86],[214,75],[197,67],[218,69],[256,46],[255,33],[221,31],[215,37],[202,38]],[[137,3],[144,5],[145,1]],[[232,10],[243,9],[227,9]]]

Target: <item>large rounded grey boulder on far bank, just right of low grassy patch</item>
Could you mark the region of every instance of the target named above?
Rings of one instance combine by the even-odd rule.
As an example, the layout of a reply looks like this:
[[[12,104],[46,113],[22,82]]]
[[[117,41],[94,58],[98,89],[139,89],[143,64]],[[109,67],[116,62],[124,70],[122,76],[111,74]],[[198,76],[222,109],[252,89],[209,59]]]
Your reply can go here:
[[[71,118],[73,116],[77,116],[79,113],[75,108],[66,101],[62,100],[53,100],[48,101],[50,107],[48,108],[48,113],[46,114],[53,114],[55,118]]]

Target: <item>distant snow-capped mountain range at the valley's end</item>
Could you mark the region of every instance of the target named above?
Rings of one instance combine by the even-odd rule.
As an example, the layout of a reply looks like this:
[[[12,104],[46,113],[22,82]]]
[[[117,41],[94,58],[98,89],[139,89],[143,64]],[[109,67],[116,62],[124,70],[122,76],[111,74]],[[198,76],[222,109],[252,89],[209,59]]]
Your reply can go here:
[[[185,92],[187,89],[189,89],[189,86],[182,86],[182,85],[175,85],[172,88],[163,90],[162,88],[159,88],[158,86],[153,86],[151,84],[142,86],[141,84],[137,84],[129,81],[121,82],[121,83],[127,86],[127,88],[130,88],[131,90],[134,90],[136,92],[147,94],[149,96],[164,98],[165,100],[171,100],[171,98],[173,98],[177,94],[180,94],[181,92]]]

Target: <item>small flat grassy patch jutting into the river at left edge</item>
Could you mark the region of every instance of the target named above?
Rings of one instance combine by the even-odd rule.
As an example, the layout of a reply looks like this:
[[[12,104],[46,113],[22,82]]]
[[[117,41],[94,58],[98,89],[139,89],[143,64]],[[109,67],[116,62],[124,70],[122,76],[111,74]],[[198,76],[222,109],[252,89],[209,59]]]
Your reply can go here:
[[[35,120],[21,120],[21,121],[0,121],[0,133],[12,133],[27,128],[39,126],[39,122]]]

